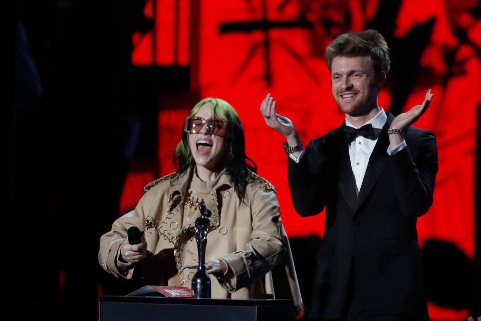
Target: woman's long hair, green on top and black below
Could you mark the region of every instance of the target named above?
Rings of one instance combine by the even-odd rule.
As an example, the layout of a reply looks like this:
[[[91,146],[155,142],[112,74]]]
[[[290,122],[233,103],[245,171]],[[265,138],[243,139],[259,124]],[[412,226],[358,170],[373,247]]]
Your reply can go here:
[[[195,115],[199,109],[207,103],[210,103],[211,118],[221,118],[228,122],[227,128],[229,136],[226,137],[227,150],[224,153],[223,163],[219,163],[219,170],[225,169],[227,174],[231,176],[234,183],[234,190],[239,199],[243,200],[246,194],[249,170],[256,172],[256,164],[251,158],[246,156],[246,140],[242,123],[240,123],[240,118],[234,108],[228,102],[219,98],[209,97],[202,99],[195,104],[189,116]],[[254,167],[246,164],[246,159],[249,159],[254,164]],[[184,131],[183,127],[182,139],[175,148],[173,163],[178,174],[184,173],[189,168],[193,169],[195,166],[195,161],[189,147],[189,134]]]

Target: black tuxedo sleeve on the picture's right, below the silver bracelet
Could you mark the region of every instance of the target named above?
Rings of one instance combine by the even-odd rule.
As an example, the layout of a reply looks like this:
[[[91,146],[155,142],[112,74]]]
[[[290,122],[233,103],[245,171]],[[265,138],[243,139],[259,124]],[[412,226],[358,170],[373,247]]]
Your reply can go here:
[[[391,168],[402,213],[421,216],[432,204],[438,169],[436,138],[432,131],[423,130],[417,143],[411,145],[415,153],[409,150],[410,144],[407,141],[406,148],[391,155],[390,162],[394,165]]]

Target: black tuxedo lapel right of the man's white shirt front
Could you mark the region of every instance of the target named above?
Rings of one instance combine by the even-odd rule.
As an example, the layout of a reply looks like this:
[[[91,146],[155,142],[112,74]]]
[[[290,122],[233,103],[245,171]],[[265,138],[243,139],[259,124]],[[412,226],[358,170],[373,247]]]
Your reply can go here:
[[[366,173],[364,179],[362,180],[361,190],[359,191],[359,197],[357,199],[357,206],[355,211],[357,211],[361,205],[364,203],[368,195],[371,193],[374,185],[381,176],[384,168],[389,162],[389,155],[387,154],[387,147],[389,146],[389,137],[387,135],[387,129],[391,125],[394,117],[388,113],[388,118],[384,124],[379,138],[374,146],[371,157],[369,157],[369,163],[367,165]]]

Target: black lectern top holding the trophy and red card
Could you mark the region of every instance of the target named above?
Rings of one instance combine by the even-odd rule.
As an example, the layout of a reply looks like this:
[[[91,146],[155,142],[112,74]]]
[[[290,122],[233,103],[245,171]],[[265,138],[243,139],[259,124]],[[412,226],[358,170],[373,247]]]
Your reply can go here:
[[[102,296],[100,321],[293,321],[292,300]]]

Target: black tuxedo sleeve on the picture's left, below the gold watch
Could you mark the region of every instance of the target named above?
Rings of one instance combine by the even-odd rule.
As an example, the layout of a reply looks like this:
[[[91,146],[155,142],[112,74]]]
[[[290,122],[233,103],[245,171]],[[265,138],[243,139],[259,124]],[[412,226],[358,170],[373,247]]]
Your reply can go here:
[[[288,181],[294,209],[301,216],[322,212],[326,204],[328,157],[325,136],[310,141],[296,164],[288,157]]]

